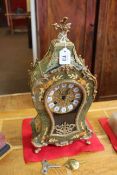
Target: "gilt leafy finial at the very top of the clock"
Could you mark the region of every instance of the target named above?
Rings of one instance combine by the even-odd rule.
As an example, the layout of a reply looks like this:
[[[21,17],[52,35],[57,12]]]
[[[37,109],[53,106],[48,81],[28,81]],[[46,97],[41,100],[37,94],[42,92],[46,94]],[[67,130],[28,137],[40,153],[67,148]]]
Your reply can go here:
[[[53,26],[56,30],[60,30],[61,32],[67,33],[69,32],[69,29],[71,28],[71,23],[67,23],[68,17],[64,17],[62,20],[60,20],[60,23],[54,23]]]

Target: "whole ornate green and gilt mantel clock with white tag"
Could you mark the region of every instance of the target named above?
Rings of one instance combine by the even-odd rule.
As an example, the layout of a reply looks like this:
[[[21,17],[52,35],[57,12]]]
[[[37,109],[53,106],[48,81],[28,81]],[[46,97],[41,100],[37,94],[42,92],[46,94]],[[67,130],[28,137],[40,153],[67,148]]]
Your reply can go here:
[[[31,71],[37,110],[31,122],[32,144],[38,151],[48,144],[63,146],[92,135],[85,116],[97,92],[96,78],[67,38],[70,26],[67,17],[54,24],[60,30],[58,38],[51,41],[46,55]]]

